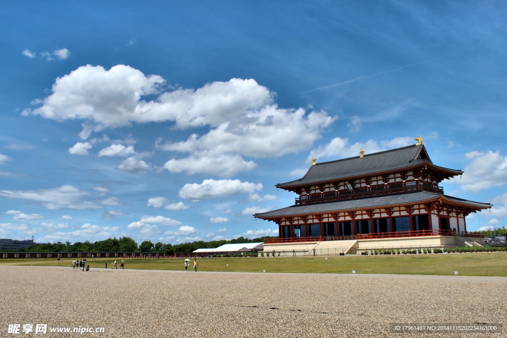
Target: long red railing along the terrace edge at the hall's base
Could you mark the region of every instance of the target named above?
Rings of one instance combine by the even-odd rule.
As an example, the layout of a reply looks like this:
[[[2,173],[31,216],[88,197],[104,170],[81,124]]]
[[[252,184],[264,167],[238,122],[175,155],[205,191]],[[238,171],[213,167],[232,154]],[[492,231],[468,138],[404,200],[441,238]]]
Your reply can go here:
[[[297,242],[321,242],[321,241],[343,241],[343,240],[371,240],[382,238],[402,238],[417,236],[460,236],[470,238],[484,238],[482,232],[456,232],[449,230],[415,230],[415,231],[396,231],[396,232],[379,232],[379,233],[358,233],[350,236],[312,236],[312,237],[293,237],[293,238],[275,238],[266,239],[264,244],[275,243],[297,243]]]

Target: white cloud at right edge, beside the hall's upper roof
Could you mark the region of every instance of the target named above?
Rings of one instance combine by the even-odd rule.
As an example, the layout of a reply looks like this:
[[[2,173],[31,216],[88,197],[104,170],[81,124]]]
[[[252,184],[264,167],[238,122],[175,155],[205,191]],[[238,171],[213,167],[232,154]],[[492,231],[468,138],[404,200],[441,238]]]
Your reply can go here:
[[[464,191],[478,192],[507,183],[507,157],[500,152],[473,151],[465,154],[471,159],[461,180],[456,180]]]

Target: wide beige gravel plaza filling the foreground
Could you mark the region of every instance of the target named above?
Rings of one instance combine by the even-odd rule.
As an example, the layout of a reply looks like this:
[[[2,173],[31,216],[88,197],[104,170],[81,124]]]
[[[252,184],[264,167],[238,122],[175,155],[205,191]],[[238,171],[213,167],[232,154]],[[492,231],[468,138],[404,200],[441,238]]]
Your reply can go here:
[[[81,335],[104,337],[484,336],[393,333],[389,324],[505,324],[507,313],[505,277],[0,266],[0,283],[2,337],[25,323],[104,327]]]

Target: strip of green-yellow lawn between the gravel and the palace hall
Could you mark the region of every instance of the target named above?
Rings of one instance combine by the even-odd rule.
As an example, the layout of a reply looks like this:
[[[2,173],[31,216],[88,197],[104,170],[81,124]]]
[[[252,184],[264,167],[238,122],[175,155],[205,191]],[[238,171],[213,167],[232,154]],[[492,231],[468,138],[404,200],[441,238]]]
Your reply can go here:
[[[114,259],[108,258],[111,268]],[[105,258],[88,260],[91,268],[104,268]],[[118,267],[121,259],[117,259]],[[462,253],[430,255],[379,255],[328,257],[249,257],[199,258],[199,271],[234,271],[267,273],[331,273],[507,276],[507,253]],[[193,260],[192,260],[193,262]],[[189,266],[189,270],[192,270]],[[71,259],[2,259],[0,265],[71,266]],[[227,266],[229,264],[229,266]],[[125,268],[184,270],[183,258],[125,259]]]

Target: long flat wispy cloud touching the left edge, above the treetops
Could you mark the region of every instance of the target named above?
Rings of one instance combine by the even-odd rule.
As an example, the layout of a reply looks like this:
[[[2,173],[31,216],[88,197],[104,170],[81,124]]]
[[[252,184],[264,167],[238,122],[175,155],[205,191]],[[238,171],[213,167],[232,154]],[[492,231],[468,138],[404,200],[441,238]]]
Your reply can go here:
[[[71,185],[38,190],[0,190],[0,196],[20,198],[47,209],[97,209],[102,208],[87,200],[89,192]]]

